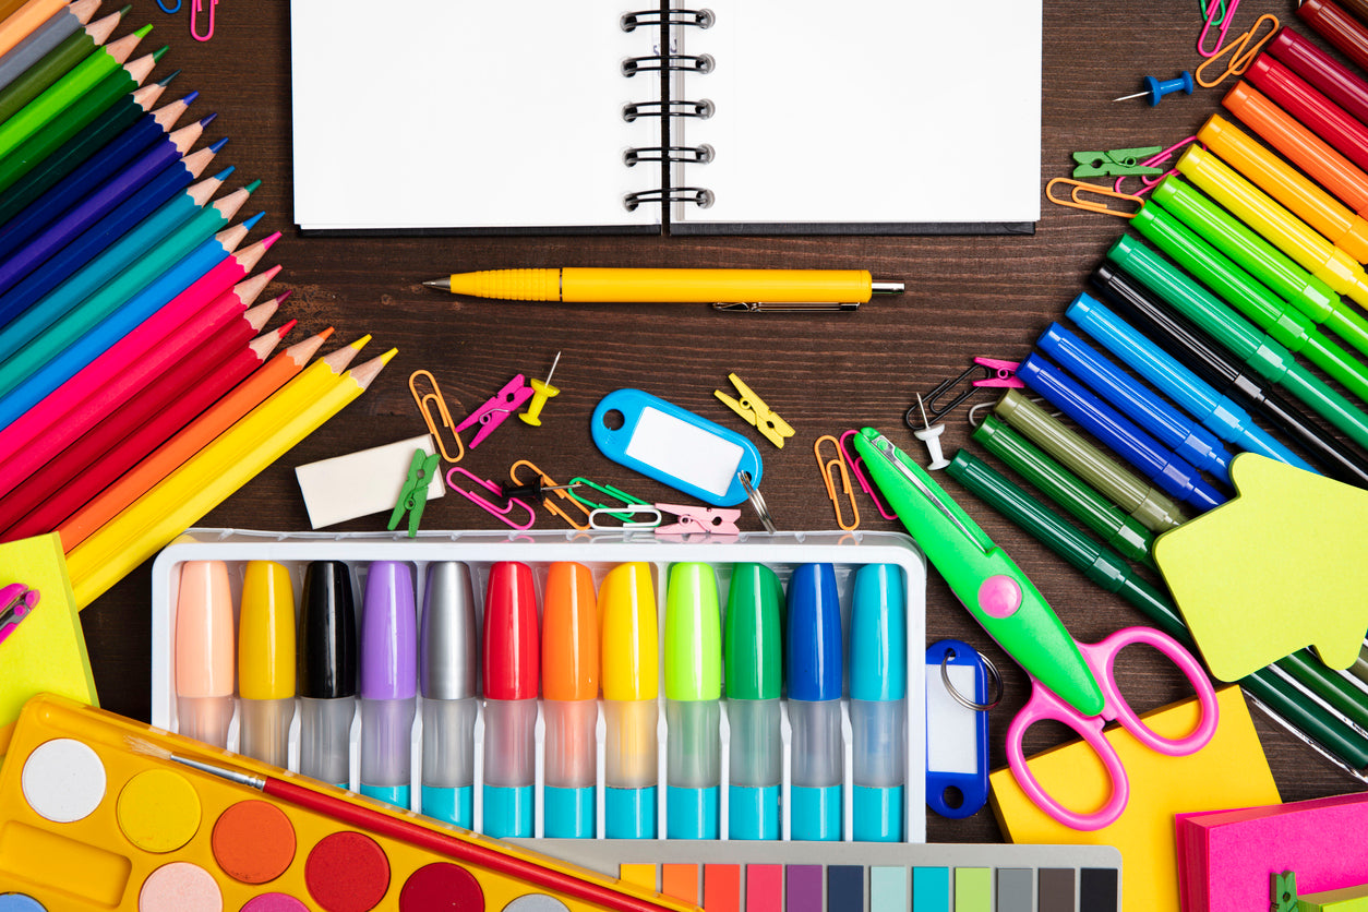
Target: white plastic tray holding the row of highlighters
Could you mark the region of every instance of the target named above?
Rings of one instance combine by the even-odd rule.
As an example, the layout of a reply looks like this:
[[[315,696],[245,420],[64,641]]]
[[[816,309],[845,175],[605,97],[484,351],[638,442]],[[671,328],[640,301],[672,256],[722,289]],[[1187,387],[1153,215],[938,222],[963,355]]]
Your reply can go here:
[[[576,561],[586,565],[594,573],[595,584],[602,582],[603,576],[614,566],[631,561],[642,561],[651,566],[655,582],[657,615],[661,625],[661,636],[665,630],[665,587],[669,578],[669,567],[673,563],[687,561],[700,561],[713,565],[720,588],[720,602],[726,604],[726,592],[731,581],[731,566],[733,563],[763,563],[767,565],[788,587],[793,567],[803,563],[832,563],[836,569],[836,580],[841,595],[841,623],[850,629],[851,589],[854,574],[863,565],[889,563],[902,567],[906,574],[907,592],[907,775],[903,790],[904,805],[904,834],[907,842],[926,841],[926,742],[925,742],[925,665],[926,648],[926,562],[922,552],[910,537],[895,532],[787,532],[777,535],[743,533],[739,537],[710,539],[707,536],[694,536],[691,540],[662,540],[654,533],[640,532],[420,532],[416,539],[406,539],[401,535],[373,535],[373,533],[324,533],[324,532],[245,532],[234,529],[190,529],[182,537],[171,543],[157,556],[152,566],[152,725],[170,732],[176,732],[175,710],[175,606],[181,580],[181,565],[186,561],[224,561],[230,567],[230,577],[234,587],[234,613],[237,613],[237,596],[241,592],[242,573],[249,561],[275,561],[290,570],[294,581],[295,611],[300,608],[300,598],[304,588],[304,572],[311,561],[342,561],[352,567],[353,593],[356,607],[360,611],[361,599],[365,593],[365,572],[372,561],[404,561],[413,566],[415,585],[417,588],[417,604],[423,604],[423,585],[427,576],[427,565],[436,561],[461,561],[471,567],[475,580],[475,595],[479,610],[477,621],[483,617],[484,585],[488,580],[488,567],[499,561],[520,561],[532,567],[538,585],[538,610],[540,610],[542,587],[546,582],[547,567],[557,561]],[[421,607],[420,607],[421,610]],[[360,622],[360,618],[357,618]],[[234,618],[234,626],[237,618]],[[358,626],[360,629],[360,626]],[[848,636],[844,639],[848,655]],[[659,663],[663,674],[663,660]],[[847,690],[848,690],[847,675]],[[661,681],[663,695],[663,680]],[[421,697],[419,697],[421,700]],[[845,796],[844,826],[845,838],[851,838],[851,721],[848,700],[843,706],[843,738],[845,745]],[[413,766],[412,766],[412,794],[416,807],[421,793],[421,719],[419,707],[413,726]],[[228,729],[228,749],[238,747],[237,716]],[[482,789],[483,782],[483,716],[475,726],[475,829],[482,829]],[[789,744],[791,729],[788,723],[787,707],[782,716],[784,741],[784,783],[781,800],[784,807],[789,807]],[[599,751],[598,751],[598,827],[603,833],[603,737],[605,726],[602,712],[599,715]],[[290,730],[290,768],[298,771],[298,716]],[[665,782],[666,760],[666,725],[663,696],[659,712],[659,778]],[[536,757],[536,794],[542,793],[542,770],[544,757],[542,747],[544,744],[543,719],[538,719],[536,726],[538,757]],[[721,831],[726,838],[726,751],[728,725],[726,704],[722,701],[722,799]],[[350,788],[358,788],[360,770],[360,721],[353,719],[352,725],[352,760],[350,760]],[[658,790],[659,833],[666,831],[666,790]],[[542,835],[542,803],[536,803],[535,833]],[[788,838],[788,822],[784,822],[784,838]]]

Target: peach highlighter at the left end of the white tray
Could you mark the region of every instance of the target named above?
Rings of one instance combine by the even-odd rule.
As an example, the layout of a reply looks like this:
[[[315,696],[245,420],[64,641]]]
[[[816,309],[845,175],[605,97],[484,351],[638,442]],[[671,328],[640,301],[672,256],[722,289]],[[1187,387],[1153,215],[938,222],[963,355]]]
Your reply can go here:
[[[223,748],[233,721],[233,589],[223,561],[186,561],[175,604],[176,730]]]

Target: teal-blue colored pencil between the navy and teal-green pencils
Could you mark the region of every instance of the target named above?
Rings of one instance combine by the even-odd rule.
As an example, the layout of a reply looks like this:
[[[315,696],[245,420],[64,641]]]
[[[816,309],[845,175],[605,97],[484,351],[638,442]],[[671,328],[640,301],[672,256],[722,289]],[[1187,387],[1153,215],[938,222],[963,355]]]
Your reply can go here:
[[[62,284],[25,308],[8,325],[0,328],[0,358],[7,358],[26,346],[30,339],[36,339],[44,330],[64,317],[104,284],[114,282],[124,269],[135,265],[150,250],[155,250],[171,232],[186,224],[208,205],[231,172],[233,168],[227,168],[186,187]],[[248,193],[249,190],[238,190],[215,204],[219,206],[222,224],[227,224],[233,219],[242,202],[246,201]],[[0,295],[0,310],[4,309],[8,297],[8,294]]]

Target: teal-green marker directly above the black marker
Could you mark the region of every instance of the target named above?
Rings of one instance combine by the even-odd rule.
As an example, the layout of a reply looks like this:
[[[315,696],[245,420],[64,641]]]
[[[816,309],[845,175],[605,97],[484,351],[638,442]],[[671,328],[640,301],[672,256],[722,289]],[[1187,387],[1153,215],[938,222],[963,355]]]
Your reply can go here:
[[[1297,364],[1291,353],[1230,312],[1140,241],[1122,237],[1107,257],[1200,325],[1256,375],[1285,387],[1316,414],[1368,447],[1368,416]]]

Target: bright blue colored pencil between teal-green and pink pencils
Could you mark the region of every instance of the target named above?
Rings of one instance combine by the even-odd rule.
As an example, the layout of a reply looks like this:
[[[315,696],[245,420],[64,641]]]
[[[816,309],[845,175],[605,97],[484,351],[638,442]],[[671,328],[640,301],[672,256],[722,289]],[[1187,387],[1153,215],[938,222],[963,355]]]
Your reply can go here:
[[[246,224],[220,231],[183,257],[155,282],[138,291],[133,298],[120,301],[114,310],[89,332],[75,339],[68,347],[57,350],[52,358],[10,392],[0,397],[0,425],[15,421],[25,412],[41,402],[48,394],[70,380],[100,353],[129,335],[144,320],[152,317],[168,302],[185,293],[198,294],[209,284],[216,286],[215,294],[222,294],[234,282],[241,282],[246,273],[238,272],[228,256],[246,235]],[[66,321],[63,321],[66,323]],[[57,327],[53,327],[55,330]],[[66,331],[67,327],[62,327]],[[44,334],[44,342],[49,334]],[[29,346],[5,362],[31,364]],[[0,379],[8,381],[8,368],[0,366]]]

